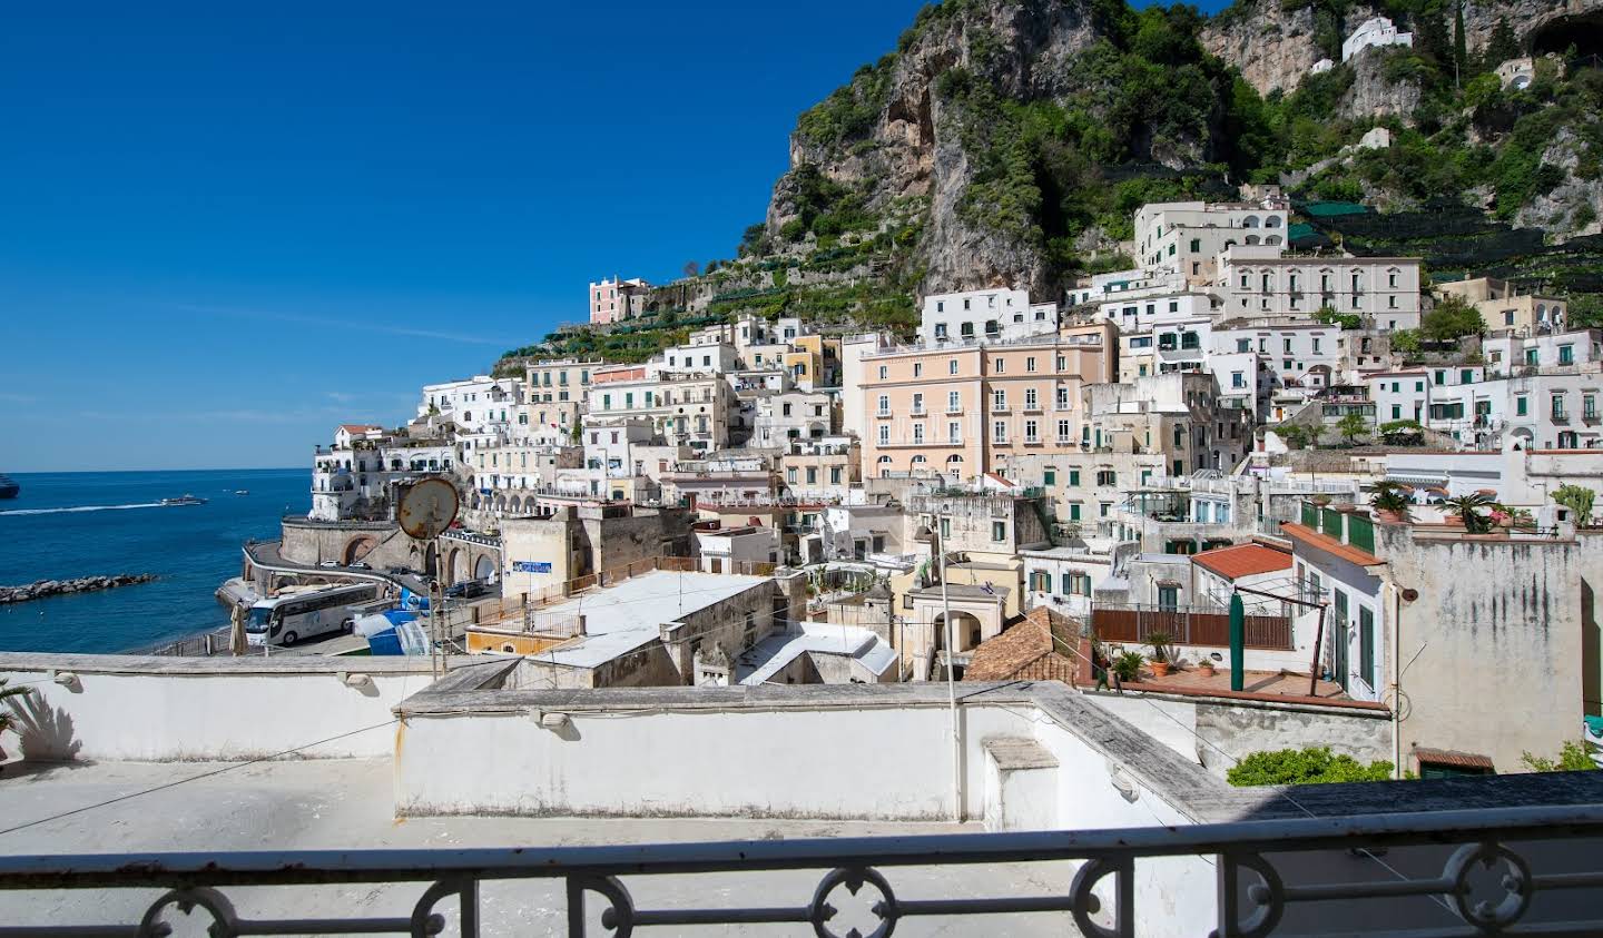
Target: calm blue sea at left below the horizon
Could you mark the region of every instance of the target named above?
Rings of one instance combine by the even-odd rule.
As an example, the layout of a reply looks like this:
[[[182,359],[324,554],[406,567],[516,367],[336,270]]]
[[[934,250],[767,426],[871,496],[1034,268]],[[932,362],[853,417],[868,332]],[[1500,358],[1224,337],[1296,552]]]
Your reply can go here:
[[[127,651],[228,625],[213,593],[239,576],[239,545],[277,537],[281,515],[311,505],[306,468],[10,475],[22,494],[0,500],[0,584],[119,572],[160,579],[0,606],[0,651]],[[183,494],[210,502],[149,507]]]

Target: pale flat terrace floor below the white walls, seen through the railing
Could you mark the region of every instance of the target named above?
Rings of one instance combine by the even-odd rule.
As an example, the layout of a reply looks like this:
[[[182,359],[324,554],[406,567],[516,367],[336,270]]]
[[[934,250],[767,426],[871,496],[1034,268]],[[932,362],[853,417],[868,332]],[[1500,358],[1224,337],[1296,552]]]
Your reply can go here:
[[[237,765],[237,763],[234,763]],[[393,816],[393,766],[382,760],[266,762],[188,781],[224,763],[64,763],[10,765],[0,776],[3,827],[16,827],[130,795],[56,821],[0,835],[13,855],[329,848],[474,848],[673,843],[699,840],[784,840],[886,834],[978,832],[978,824],[885,824],[850,821],[742,819],[596,819],[596,818],[407,818]],[[890,871],[899,898],[983,898],[1066,893],[1074,864],[904,867]],[[648,908],[803,906],[819,880],[816,871],[697,874],[627,879]],[[425,883],[329,887],[231,887],[224,893],[242,917],[407,916]],[[160,890],[0,892],[0,922],[10,927],[136,924]],[[864,890],[864,901],[874,890]],[[874,920],[867,908],[850,908],[845,890],[838,920]],[[592,903],[593,916],[600,916]],[[452,914],[449,903],[442,906]],[[561,880],[489,880],[479,903],[484,935],[566,935]],[[196,917],[204,919],[204,912]],[[183,916],[176,919],[183,922]],[[904,919],[896,933],[951,933],[976,928],[994,935],[1076,935],[1068,912]],[[606,935],[592,924],[593,932]],[[649,932],[649,930],[648,930]],[[186,932],[188,933],[188,932]],[[684,932],[667,932],[681,935]],[[713,935],[795,935],[795,925],[707,928]]]

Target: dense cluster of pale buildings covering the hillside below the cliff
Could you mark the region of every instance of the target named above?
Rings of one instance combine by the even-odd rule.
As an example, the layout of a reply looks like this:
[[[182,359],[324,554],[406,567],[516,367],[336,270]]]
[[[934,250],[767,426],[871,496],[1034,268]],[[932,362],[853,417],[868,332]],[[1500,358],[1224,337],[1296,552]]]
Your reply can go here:
[[[282,560],[483,596],[457,651],[558,688],[1117,685],[1390,720],[1364,754],[1419,776],[1597,739],[1603,334],[1295,218],[1143,205],[1138,266],[927,295],[907,338],[737,316],[425,385],[317,447]],[[588,329],[648,289],[590,284]],[[1481,327],[1398,348],[1449,308]],[[455,526],[385,534],[436,475]]]

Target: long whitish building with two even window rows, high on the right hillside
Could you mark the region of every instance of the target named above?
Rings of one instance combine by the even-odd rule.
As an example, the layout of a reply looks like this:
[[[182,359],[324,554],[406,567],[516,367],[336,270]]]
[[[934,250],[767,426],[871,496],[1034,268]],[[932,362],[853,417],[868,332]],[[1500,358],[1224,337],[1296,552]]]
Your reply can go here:
[[[1250,245],[1218,255],[1226,317],[1310,316],[1329,306],[1377,329],[1417,329],[1419,284],[1417,257],[1282,257]]]

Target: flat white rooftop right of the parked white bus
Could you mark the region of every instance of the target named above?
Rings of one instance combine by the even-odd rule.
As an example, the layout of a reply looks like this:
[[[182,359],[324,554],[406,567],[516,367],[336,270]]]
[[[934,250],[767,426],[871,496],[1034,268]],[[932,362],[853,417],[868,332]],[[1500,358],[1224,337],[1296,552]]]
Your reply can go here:
[[[543,616],[583,616],[585,635],[539,654],[540,662],[600,667],[654,641],[664,622],[737,596],[769,577],[651,571],[617,585],[540,609]]]

